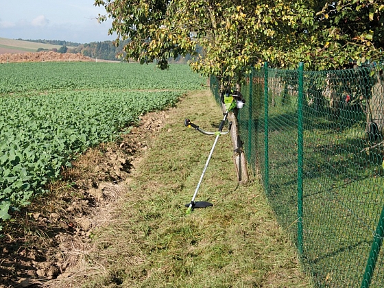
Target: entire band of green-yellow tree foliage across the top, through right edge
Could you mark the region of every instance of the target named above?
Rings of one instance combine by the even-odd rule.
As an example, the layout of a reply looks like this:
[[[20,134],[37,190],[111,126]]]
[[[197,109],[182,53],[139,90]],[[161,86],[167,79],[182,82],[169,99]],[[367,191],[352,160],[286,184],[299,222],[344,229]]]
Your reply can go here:
[[[383,0],[216,1],[96,0],[112,19],[110,33],[129,39],[127,58],[141,63],[194,53],[193,70],[222,80],[250,65],[339,68],[381,60]],[[201,45],[204,53],[195,53]]]

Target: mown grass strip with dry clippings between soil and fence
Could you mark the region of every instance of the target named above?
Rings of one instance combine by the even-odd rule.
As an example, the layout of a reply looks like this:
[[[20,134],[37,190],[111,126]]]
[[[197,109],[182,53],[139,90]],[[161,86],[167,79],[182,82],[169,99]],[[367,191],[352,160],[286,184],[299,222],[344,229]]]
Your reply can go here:
[[[112,222],[93,233],[86,266],[55,287],[312,287],[259,182],[237,187],[229,135],[219,138],[197,201],[186,215],[222,115],[209,91],[169,112],[126,182]],[[81,272],[80,272],[81,270]]]

